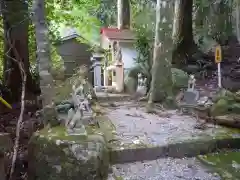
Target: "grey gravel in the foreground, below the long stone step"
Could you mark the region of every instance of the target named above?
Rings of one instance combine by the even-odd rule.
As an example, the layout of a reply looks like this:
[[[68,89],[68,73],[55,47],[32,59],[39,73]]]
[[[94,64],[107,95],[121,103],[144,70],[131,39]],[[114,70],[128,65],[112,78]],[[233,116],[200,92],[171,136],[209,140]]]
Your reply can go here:
[[[112,167],[108,180],[220,180],[195,158],[165,158],[154,161],[119,164]]]

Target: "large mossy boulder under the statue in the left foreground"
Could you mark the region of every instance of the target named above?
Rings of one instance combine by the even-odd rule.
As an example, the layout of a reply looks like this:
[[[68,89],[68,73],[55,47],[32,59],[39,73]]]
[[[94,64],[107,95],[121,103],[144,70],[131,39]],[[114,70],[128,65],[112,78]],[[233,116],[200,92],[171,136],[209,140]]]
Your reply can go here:
[[[88,133],[88,136],[69,136],[61,126],[35,133],[29,145],[29,178],[104,179],[109,166],[104,138],[100,132],[92,129]]]

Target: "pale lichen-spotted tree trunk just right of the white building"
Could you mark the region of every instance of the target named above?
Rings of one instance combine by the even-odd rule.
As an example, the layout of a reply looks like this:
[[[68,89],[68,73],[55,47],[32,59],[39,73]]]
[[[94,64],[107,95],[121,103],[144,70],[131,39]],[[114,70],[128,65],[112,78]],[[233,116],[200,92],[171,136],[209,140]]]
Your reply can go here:
[[[149,103],[170,100],[172,93],[172,4],[157,0]]]

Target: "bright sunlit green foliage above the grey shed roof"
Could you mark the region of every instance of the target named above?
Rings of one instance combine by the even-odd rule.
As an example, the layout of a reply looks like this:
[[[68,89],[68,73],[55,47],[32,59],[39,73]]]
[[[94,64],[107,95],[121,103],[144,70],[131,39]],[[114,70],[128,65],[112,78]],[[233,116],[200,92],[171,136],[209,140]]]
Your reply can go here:
[[[99,34],[101,26],[100,20],[95,16],[99,6],[100,0],[66,0],[65,4],[47,3],[48,9],[51,10],[49,21],[58,28],[74,27],[86,39],[96,41],[98,40],[96,34]]]

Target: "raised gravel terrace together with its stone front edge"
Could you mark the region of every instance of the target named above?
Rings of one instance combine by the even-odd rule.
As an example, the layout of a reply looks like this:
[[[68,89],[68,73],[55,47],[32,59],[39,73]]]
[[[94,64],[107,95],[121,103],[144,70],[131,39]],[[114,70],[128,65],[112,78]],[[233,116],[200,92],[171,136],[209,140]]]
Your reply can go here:
[[[206,124],[206,129],[197,129],[199,123],[193,117],[174,111],[159,116],[131,106],[109,109],[98,119],[112,164],[195,157],[219,149],[240,148],[238,130],[210,124]],[[166,113],[170,115],[167,117]]]

